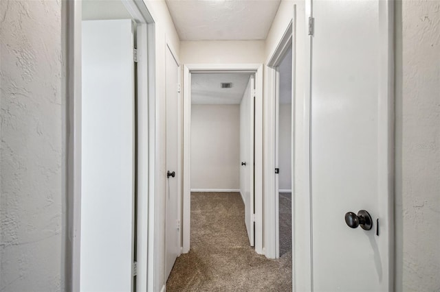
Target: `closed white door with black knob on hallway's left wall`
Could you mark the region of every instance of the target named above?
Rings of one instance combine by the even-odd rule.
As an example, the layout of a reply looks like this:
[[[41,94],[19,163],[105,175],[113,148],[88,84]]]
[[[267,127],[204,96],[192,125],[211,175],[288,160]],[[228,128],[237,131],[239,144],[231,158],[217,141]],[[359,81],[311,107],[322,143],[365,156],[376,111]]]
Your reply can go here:
[[[171,51],[166,49],[166,278],[179,255],[179,66]]]

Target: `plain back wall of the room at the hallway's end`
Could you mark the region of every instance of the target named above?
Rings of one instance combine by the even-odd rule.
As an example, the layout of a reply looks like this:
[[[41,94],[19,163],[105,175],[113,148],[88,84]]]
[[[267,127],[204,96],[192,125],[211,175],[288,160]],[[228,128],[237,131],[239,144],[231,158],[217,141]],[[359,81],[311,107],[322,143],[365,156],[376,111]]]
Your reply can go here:
[[[240,188],[240,105],[191,106],[191,188]]]

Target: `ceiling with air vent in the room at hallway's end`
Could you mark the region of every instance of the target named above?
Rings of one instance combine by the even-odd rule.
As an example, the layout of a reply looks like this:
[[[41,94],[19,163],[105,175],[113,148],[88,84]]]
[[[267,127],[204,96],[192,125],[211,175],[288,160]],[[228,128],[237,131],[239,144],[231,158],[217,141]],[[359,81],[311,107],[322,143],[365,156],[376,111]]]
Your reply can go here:
[[[251,73],[192,73],[191,104],[240,104]],[[232,82],[232,88],[221,88]]]

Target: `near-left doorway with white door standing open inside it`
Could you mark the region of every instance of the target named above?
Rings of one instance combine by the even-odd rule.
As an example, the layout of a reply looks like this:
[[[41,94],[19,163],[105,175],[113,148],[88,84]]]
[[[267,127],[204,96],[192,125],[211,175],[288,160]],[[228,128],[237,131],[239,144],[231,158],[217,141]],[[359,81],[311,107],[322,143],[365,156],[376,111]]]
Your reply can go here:
[[[73,291],[146,290],[152,22],[135,0],[69,5]]]

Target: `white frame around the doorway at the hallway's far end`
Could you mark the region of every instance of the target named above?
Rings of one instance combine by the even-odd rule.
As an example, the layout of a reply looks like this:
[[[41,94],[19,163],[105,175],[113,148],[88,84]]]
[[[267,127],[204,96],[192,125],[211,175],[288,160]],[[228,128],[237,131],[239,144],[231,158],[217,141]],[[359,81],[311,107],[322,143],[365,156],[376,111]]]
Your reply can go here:
[[[255,73],[255,251],[263,251],[263,64],[186,64],[184,65],[184,200],[182,252],[190,250],[190,158],[191,158],[191,73]]]

